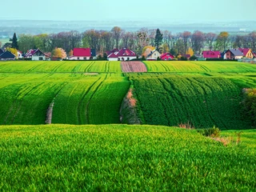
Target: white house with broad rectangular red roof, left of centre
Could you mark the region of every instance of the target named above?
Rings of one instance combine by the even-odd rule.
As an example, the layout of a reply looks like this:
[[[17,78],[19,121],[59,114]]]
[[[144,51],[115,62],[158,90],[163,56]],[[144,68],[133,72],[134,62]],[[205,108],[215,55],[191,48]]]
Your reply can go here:
[[[96,59],[96,50],[90,48],[74,48],[70,60],[89,60]]]

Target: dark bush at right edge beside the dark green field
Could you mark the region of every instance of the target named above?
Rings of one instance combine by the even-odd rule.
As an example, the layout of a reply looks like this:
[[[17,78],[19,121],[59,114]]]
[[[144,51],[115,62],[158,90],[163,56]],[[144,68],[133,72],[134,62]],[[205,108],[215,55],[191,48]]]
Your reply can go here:
[[[253,125],[256,125],[256,89],[247,89],[245,98],[242,102],[244,105],[245,114],[249,116]]]

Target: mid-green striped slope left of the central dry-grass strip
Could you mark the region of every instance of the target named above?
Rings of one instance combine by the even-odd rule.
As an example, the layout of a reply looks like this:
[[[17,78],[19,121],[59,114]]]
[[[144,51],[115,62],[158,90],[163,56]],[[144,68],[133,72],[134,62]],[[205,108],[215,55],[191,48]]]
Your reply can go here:
[[[119,123],[130,82],[121,74],[0,74],[0,124]]]

